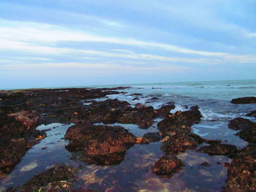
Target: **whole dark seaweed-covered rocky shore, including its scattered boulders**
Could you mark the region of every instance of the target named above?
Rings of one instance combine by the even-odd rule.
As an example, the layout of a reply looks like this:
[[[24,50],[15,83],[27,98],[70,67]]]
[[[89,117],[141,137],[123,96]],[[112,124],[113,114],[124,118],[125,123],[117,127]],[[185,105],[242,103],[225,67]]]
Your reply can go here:
[[[227,169],[223,191],[256,191],[256,123],[245,118],[230,120],[228,127],[249,143],[238,149],[222,140],[204,139],[192,133],[192,126],[200,123],[202,118],[198,106],[170,113],[176,107],[173,102],[155,110],[146,104],[132,106],[118,99],[97,100],[122,94],[124,89],[127,87],[0,91],[0,179],[15,169],[31,147],[47,137],[47,132],[37,130],[37,126],[72,123],[64,135],[67,141],[65,149],[78,154],[78,159],[85,164],[115,166],[124,161],[130,147],[159,142],[162,157],[151,162],[153,174],[170,178],[182,172],[186,165],[178,155],[187,151],[222,155],[231,159],[231,163],[222,165]],[[157,100],[157,97],[152,99]],[[248,97],[231,102],[252,104],[255,101],[255,98]],[[254,118],[255,111],[248,116]],[[111,125],[134,124],[146,130],[157,120],[158,131],[148,132],[142,137],[135,136],[123,126]],[[203,166],[211,165],[205,162]],[[79,172],[77,167],[56,164],[34,175],[24,185],[6,191],[87,191],[78,187]]]

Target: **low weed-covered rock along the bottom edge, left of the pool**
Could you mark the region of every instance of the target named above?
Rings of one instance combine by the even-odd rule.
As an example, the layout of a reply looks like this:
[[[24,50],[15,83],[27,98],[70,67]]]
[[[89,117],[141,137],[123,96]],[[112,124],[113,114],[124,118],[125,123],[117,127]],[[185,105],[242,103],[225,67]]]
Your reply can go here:
[[[32,177],[23,186],[8,188],[6,192],[68,192],[72,190],[77,170],[65,164],[57,164],[52,168]]]

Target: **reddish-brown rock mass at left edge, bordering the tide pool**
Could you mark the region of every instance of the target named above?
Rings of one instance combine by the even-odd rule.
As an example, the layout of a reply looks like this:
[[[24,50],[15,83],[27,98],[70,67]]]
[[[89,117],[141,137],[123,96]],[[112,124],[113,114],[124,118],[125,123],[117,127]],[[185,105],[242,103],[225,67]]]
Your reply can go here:
[[[10,173],[23,155],[46,137],[44,131],[35,130],[37,123],[38,117],[31,112],[0,113],[0,177]]]

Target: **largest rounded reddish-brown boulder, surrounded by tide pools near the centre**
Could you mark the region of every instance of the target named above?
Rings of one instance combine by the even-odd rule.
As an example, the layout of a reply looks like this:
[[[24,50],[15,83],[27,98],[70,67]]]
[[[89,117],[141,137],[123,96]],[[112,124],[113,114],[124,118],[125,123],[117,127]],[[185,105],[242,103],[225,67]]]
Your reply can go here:
[[[126,150],[135,144],[136,137],[121,126],[80,124],[67,130],[67,150],[81,151],[88,164],[118,164]]]

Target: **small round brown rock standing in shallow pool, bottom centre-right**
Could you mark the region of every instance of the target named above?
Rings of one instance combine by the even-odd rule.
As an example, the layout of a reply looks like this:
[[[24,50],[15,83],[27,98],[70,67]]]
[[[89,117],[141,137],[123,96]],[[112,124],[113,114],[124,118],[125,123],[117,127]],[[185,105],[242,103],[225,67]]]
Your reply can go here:
[[[176,157],[162,157],[152,167],[152,172],[158,175],[164,175],[171,177],[173,174],[181,170],[181,166],[184,166],[182,161]]]

